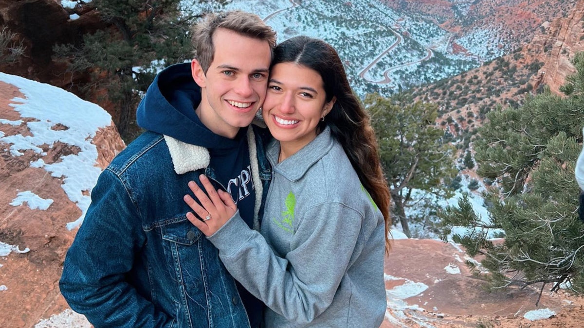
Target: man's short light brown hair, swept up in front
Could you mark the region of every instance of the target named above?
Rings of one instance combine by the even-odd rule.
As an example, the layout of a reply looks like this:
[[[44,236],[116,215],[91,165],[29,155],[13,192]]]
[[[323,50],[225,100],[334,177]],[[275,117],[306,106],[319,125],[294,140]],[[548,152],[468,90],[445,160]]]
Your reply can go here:
[[[242,36],[265,40],[270,45],[270,53],[273,56],[276,47],[276,32],[272,30],[272,27],[267,26],[258,15],[244,11],[207,13],[191,30],[193,56],[199,61],[205,73],[207,73],[215,54],[213,34],[217,29],[226,29]]]

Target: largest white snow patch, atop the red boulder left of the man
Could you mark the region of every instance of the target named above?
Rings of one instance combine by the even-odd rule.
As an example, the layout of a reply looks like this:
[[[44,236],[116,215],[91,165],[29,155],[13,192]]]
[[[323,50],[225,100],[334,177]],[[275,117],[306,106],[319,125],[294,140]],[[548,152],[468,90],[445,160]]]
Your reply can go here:
[[[40,146],[62,142],[79,149],[77,155],[61,156],[55,163],[47,164],[39,159],[33,167],[43,168],[51,176],[61,178],[62,189],[69,200],[77,204],[82,214],[74,222],[67,224],[67,229],[77,228],[89,207],[91,198],[84,192],[91,191],[101,169],[95,166],[98,151],[91,139],[99,128],[105,128],[112,122],[112,117],[98,105],[86,102],[63,89],[44,83],[30,81],[20,76],[0,72],[0,81],[15,85],[25,95],[15,97],[11,104],[23,118],[34,118],[26,125],[32,135],[8,135],[0,137],[0,142],[10,145],[13,156],[23,155],[22,151],[34,151],[44,155]],[[54,99],[54,102],[47,102]],[[79,109],[83,109],[81,112]],[[22,124],[22,123],[21,123]],[[68,127],[67,130],[53,130],[57,124]],[[30,206],[30,203],[29,203]]]

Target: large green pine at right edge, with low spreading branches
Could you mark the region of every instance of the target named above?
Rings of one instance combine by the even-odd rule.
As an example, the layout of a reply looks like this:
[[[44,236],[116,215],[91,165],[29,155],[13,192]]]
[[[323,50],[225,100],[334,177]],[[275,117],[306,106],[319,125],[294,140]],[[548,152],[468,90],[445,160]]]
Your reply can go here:
[[[541,283],[541,291],[547,284],[555,291],[567,282],[584,292],[584,224],[574,177],[582,149],[584,54],[573,63],[576,74],[561,88],[565,96],[547,88],[519,108],[492,111],[479,128],[477,173],[499,186],[485,194],[489,218],[478,218],[468,198],[443,212],[444,239],[454,226],[470,227],[452,238],[470,256],[484,256],[493,288]],[[495,229],[504,231],[504,242],[489,240]]]

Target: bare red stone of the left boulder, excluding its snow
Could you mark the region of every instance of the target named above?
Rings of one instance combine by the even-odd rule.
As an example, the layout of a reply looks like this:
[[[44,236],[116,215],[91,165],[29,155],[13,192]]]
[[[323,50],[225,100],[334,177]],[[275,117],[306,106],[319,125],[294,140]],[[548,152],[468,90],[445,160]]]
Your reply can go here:
[[[0,81],[0,118],[25,121],[16,126],[0,123],[4,134],[0,137],[32,135],[26,121],[35,119],[20,117],[9,106],[14,103],[14,97],[25,98],[25,95],[15,86]],[[124,148],[113,124],[96,131],[91,142],[98,151],[95,166],[101,169]],[[59,162],[62,156],[74,155],[80,149],[64,142],[42,148],[46,154],[24,151],[24,155],[14,156],[9,145],[0,139],[0,242],[18,246],[20,250],[30,249],[30,252],[12,252],[0,257],[0,285],[6,286],[6,290],[0,291],[0,327],[33,327],[41,319],[68,309],[59,292],[58,280],[76,230],[68,231],[65,225],[79,218],[82,211],[65,194],[62,178],[51,176],[43,168],[31,167],[30,162],[39,158],[46,163]],[[46,210],[33,210],[26,204],[10,205],[18,192],[25,190],[53,203]]]

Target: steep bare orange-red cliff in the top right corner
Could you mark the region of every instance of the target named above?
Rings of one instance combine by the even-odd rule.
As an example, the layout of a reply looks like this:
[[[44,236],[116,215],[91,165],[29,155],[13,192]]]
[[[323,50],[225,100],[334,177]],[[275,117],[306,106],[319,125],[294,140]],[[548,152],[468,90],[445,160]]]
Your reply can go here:
[[[579,1],[564,18],[544,24],[545,34],[539,34],[527,46],[538,54],[538,61],[544,63],[538,72],[537,83],[550,86],[552,92],[559,92],[566,76],[575,72],[571,58],[584,51],[584,1]]]

